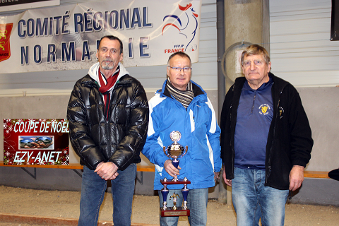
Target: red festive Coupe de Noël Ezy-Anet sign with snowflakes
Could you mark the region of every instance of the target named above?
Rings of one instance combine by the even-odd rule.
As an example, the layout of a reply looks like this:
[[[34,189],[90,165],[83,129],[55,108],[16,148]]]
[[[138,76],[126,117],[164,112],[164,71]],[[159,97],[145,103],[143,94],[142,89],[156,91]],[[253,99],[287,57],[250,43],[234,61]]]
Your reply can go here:
[[[66,119],[4,119],[5,165],[69,165]]]

